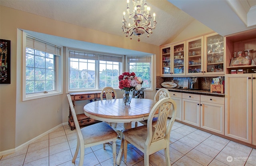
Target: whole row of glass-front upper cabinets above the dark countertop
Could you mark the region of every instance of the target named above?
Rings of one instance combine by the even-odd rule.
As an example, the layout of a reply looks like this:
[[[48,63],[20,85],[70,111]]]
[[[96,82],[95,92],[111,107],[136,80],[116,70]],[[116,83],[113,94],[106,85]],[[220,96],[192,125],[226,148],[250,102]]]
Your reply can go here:
[[[217,33],[161,47],[162,76],[225,74],[225,38]]]

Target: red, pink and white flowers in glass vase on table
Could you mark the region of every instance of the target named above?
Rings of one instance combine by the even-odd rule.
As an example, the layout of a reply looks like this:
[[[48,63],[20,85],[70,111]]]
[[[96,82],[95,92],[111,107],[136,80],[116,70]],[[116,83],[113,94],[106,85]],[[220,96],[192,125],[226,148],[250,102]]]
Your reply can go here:
[[[129,105],[132,100],[130,92],[132,90],[140,90],[142,87],[143,80],[137,77],[134,72],[124,72],[118,77],[119,88],[124,90],[123,100],[125,105]]]

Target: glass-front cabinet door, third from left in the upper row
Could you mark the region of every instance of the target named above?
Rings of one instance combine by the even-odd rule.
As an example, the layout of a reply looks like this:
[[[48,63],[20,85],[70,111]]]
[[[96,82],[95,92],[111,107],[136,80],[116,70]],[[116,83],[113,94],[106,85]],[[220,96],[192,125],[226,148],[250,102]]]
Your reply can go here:
[[[204,74],[204,37],[186,41],[186,75]]]

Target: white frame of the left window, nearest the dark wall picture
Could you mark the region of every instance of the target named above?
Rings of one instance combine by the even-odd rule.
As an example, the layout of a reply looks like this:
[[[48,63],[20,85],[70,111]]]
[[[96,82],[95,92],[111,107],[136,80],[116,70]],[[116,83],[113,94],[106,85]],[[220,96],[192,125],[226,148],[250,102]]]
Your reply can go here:
[[[63,48],[61,48],[61,56],[55,56],[56,90],[49,91],[47,93],[39,92],[34,94],[26,94],[26,35],[27,33],[22,31],[22,101],[63,94]]]

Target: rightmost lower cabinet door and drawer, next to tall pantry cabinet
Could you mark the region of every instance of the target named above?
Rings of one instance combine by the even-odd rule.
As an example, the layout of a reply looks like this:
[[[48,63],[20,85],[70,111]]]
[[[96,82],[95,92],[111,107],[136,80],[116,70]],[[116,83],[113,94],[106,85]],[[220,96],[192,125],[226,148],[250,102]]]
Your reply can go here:
[[[201,95],[200,127],[224,135],[224,97]]]

